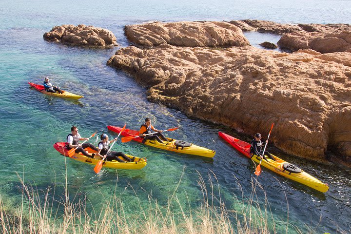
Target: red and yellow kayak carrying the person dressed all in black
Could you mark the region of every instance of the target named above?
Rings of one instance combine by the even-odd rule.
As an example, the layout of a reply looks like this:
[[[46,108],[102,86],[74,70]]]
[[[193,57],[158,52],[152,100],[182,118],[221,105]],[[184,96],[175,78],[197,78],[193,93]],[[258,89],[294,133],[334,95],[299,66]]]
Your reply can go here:
[[[219,137],[222,137],[225,141],[227,141],[229,144],[231,144],[236,150],[238,150],[240,153],[247,157],[250,156],[250,144],[239,140],[235,137],[229,136],[225,133],[218,132]],[[328,184],[323,183],[319,179],[309,175],[308,173],[304,172],[300,168],[296,167],[295,165],[292,165],[289,162],[284,161],[283,159],[273,156],[275,160],[270,159],[267,157],[268,162],[266,160],[262,160],[261,165],[270,169],[271,171],[287,177],[289,179],[292,179],[296,182],[299,182],[301,184],[304,184],[306,186],[311,187],[312,189],[315,189],[320,192],[327,192],[329,189]],[[257,156],[253,156],[252,159],[259,163],[261,158]]]

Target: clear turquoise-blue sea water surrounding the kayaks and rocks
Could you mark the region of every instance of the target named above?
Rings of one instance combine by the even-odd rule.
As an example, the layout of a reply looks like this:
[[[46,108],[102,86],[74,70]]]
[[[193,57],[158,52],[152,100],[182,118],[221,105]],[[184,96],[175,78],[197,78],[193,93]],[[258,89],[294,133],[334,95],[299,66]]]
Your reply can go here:
[[[299,6],[303,6],[300,9]],[[234,195],[241,196],[237,180],[245,194],[251,192],[254,165],[218,138],[223,131],[239,138],[233,130],[188,118],[175,109],[146,100],[146,90],[123,72],[107,67],[106,61],[117,48],[92,49],[46,42],[44,32],[61,24],[94,25],[111,30],[121,47],[129,45],[123,33],[126,24],[149,20],[240,20],[259,19],[289,23],[351,23],[351,1],[1,1],[0,2],[0,194],[15,204],[20,199],[16,172],[25,175],[39,189],[63,182],[65,158],[52,145],[64,141],[72,125],[82,137],[95,130],[107,132],[107,125],[137,128],[145,117],[151,117],[159,129],[175,126],[179,130],[169,137],[193,142],[216,150],[213,159],[178,155],[144,147],[135,142],[118,143],[115,150],[135,156],[146,156],[148,165],[140,171],[103,170],[99,175],[88,164],[67,159],[67,175],[71,195],[86,195],[93,204],[101,205],[97,190],[105,195],[122,194],[127,212],[133,214],[137,190],[142,202],[148,193],[160,204],[166,204],[184,170],[177,195],[181,202],[199,207],[201,190],[197,171],[206,178],[214,172],[228,209],[234,209]],[[258,46],[264,40],[276,42],[274,35],[248,34]],[[262,40],[262,41],[261,41]],[[84,98],[78,101],[43,96],[29,88],[28,81],[41,83],[44,76],[54,84]],[[267,131],[268,132],[268,131]],[[117,137],[116,134],[108,132]],[[267,133],[262,133],[267,134]],[[274,131],[272,132],[274,134]],[[94,142],[92,140],[91,142]],[[317,233],[349,233],[351,220],[350,170],[338,165],[323,165],[306,159],[271,152],[299,165],[331,188],[321,194],[289,179],[263,169],[258,180],[268,195],[273,217],[287,220],[305,230],[305,224]],[[184,168],[185,167],[185,168]],[[127,188],[126,188],[127,187]],[[142,189],[141,189],[142,188]],[[60,192],[60,191],[59,191]],[[62,191],[61,191],[62,192]],[[262,191],[258,191],[263,196]],[[187,198],[188,196],[188,198]],[[125,200],[124,200],[125,199]],[[11,205],[7,204],[7,205]],[[320,221],[321,218],[321,221]],[[294,233],[291,228],[289,233]]]

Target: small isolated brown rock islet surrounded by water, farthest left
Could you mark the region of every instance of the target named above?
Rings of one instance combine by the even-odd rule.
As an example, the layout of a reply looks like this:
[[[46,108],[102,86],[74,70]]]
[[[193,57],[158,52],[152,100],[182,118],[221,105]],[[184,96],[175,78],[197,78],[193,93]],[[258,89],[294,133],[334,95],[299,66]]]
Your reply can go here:
[[[117,39],[111,31],[83,24],[55,26],[50,32],[44,33],[43,38],[48,41],[61,41],[81,46],[117,45]]]

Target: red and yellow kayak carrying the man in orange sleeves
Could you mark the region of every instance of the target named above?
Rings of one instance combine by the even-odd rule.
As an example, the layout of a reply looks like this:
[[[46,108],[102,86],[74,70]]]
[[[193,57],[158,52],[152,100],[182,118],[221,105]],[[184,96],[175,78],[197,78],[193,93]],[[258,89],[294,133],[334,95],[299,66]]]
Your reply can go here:
[[[107,126],[108,130],[111,130],[115,133],[119,133],[122,128],[116,127],[116,126]],[[122,133],[122,136],[124,137],[136,137],[139,135],[139,131],[137,130],[132,130],[132,129],[125,129]],[[171,138],[167,139],[171,140]],[[142,139],[140,137],[133,138],[133,140],[137,142],[142,142]],[[214,150],[209,150],[201,146],[194,145],[192,143],[180,141],[173,139],[172,141],[165,141],[165,144],[159,143],[157,140],[146,140],[145,145],[152,146],[158,149],[162,150],[168,150],[168,151],[173,151],[176,153],[180,154],[188,154],[188,155],[196,155],[196,156],[203,156],[203,157],[214,157],[215,156],[215,151]]]

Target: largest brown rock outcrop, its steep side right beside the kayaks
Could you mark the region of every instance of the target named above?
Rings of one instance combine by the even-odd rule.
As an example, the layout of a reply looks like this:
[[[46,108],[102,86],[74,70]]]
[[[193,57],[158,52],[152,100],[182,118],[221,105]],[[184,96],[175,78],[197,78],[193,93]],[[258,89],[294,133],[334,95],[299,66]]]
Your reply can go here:
[[[108,65],[148,87],[151,101],[254,134],[274,122],[275,144],[323,159],[351,156],[351,53],[292,54],[251,46],[223,50],[122,48]]]

